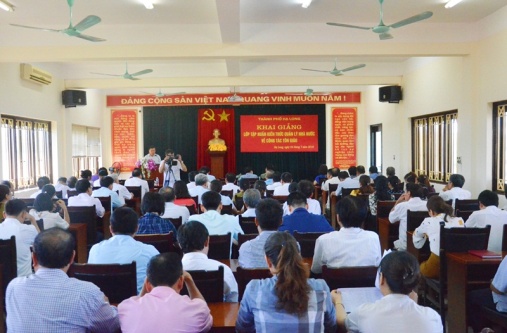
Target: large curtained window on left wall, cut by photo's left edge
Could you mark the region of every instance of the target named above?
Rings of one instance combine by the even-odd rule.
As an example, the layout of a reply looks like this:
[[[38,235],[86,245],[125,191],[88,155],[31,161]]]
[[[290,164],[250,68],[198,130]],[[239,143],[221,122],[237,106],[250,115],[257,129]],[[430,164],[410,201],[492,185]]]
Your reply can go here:
[[[2,178],[15,189],[35,187],[37,179],[52,179],[51,123],[2,115]]]

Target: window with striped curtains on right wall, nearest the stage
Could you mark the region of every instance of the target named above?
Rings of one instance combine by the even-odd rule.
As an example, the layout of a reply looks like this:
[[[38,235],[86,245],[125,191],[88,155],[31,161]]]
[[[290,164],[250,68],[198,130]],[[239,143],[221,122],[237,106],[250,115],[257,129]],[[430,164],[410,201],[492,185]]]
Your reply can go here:
[[[412,167],[431,181],[448,182],[457,171],[458,111],[412,118]]]

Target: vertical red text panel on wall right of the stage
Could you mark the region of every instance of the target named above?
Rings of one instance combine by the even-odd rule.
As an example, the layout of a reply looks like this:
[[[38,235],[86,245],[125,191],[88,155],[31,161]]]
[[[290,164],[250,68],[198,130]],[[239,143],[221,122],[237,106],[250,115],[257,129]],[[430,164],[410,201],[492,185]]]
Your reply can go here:
[[[347,169],[357,164],[357,109],[333,108],[333,166]]]

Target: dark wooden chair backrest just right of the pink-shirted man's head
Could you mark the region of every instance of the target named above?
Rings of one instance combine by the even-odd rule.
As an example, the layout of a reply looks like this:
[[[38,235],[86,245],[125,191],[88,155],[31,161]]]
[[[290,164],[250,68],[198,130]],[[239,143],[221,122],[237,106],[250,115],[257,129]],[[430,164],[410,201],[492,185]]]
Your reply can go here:
[[[224,267],[217,271],[187,271],[194,280],[197,289],[208,303],[224,301]],[[187,287],[181,290],[182,295],[188,295]]]

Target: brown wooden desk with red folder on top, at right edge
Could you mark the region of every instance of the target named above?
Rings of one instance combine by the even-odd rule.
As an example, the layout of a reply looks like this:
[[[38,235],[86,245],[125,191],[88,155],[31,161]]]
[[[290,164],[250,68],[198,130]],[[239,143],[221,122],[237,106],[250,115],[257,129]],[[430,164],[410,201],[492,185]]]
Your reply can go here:
[[[502,252],[502,258],[507,252]],[[468,291],[488,288],[501,259],[482,259],[463,253],[447,253],[448,332],[467,331]]]

